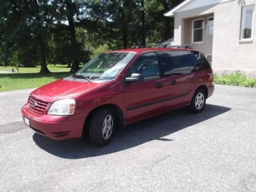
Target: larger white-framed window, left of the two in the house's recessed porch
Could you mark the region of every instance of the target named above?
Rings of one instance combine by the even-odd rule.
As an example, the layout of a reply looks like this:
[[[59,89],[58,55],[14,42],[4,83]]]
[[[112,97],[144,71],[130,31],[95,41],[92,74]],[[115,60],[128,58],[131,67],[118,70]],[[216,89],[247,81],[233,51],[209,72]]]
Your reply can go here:
[[[203,27],[204,27],[204,19],[193,20],[192,42],[194,43],[203,42]]]

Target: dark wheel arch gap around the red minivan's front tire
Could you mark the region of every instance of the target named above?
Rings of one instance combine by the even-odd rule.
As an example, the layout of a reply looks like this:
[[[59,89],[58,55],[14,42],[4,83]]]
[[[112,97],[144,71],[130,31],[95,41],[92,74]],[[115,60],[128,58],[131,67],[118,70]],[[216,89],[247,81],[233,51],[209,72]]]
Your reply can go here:
[[[102,109],[102,108],[110,108],[113,110],[113,112],[115,113],[116,118],[116,123],[117,123],[117,127],[119,129],[122,129],[124,127],[125,124],[125,117],[124,114],[122,112],[122,110],[119,108],[118,105],[116,104],[103,104],[100,106],[97,106],[96,108],[94,108],[86,117],[86,120],[84,120],[84,124],[83,124],[83,132],[82,132],[82,136],[83,137],[88,137],[89,136],[89,125],[90,125],[90,121],[92,118],[92,115],[95,111],[97,111],[98,109]]]

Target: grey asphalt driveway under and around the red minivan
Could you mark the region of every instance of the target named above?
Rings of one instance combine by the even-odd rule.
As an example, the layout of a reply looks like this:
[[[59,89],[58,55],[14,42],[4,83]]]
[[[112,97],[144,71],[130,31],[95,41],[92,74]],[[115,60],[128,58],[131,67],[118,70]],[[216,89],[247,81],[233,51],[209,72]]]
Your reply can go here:
[[[0,93],[0,191],[256,191],[256,89],[217,85],[204,112],[135,123],[105,147],[26,127],[30,92]]]

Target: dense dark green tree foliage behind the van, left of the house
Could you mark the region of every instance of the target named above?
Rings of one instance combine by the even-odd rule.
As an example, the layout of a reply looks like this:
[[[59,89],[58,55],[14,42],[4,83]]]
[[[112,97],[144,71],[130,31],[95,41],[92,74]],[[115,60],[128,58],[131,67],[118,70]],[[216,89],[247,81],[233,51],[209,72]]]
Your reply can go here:
[[[181,0],[0,0],[0,65],[71,66],[107,50],[173,37],[163,14]],[[14,61],[12,61],[14,60]]]

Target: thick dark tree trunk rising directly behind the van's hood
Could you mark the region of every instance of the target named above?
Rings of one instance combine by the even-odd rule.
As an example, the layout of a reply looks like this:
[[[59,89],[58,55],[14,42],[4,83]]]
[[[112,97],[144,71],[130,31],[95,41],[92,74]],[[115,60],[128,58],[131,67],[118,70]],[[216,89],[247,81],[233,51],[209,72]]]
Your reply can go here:
[[[76,44],[76,31],[73,18],[73,7],[71,1],[66,1],[68,10],[68,22],[69,22],[69,34],[70,34],[70,44],[71,44],[71,56],[72,56],[72,66],[70,72],[75,73],[79,70],[79,62],[77,57],[77,44]]]

